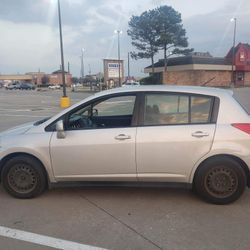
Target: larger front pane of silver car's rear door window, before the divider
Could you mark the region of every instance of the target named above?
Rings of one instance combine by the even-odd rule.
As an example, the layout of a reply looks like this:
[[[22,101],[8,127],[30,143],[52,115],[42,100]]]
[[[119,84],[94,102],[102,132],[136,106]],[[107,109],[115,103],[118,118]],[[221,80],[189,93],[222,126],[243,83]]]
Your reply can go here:
[[[189,98],[185,95],[146,95],[144,125],[188,123],[188,107]]]

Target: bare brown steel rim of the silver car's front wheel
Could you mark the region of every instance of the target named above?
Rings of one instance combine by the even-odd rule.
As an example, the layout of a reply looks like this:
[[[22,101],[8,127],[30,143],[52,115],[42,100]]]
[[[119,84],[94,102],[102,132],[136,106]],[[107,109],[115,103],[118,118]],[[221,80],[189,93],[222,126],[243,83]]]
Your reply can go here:
[[[27,164],[17,164],[8,173],[8,183],[11,189],[17,193],[30,193],[37,185],[37,174]]]

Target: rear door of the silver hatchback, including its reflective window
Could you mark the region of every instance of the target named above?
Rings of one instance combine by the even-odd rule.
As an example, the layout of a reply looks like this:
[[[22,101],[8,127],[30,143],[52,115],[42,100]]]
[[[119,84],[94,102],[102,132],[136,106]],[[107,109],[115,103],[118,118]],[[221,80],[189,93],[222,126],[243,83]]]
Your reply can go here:
[[[187,182],[195,163],[210,151],[214,98],[146,93],[137,130],[137,171],[141,181]]]

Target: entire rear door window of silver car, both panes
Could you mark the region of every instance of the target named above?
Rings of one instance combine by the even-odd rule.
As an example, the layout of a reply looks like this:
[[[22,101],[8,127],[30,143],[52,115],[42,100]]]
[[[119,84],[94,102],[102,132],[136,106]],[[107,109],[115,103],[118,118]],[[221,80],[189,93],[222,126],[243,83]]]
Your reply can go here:
[[[144,125],[210,123],[213,97],[188,94],[146,94]]]

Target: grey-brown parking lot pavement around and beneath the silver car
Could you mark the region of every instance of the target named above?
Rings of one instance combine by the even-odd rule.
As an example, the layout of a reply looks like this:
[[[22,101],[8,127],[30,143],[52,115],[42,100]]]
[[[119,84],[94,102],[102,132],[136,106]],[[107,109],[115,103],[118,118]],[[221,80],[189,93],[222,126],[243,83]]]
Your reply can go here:
[[[57,113],[61,92],[0,89],[0,131]],[[250,110],[250,89],[236,94]],[[69,92],[72,103],[88,95]],[[62,249],[249,249],[249,231],[250,190],[218,206],[183,189],[57,188],[19,200],[0,187],[0,250],[53,249],[54,241]]]

